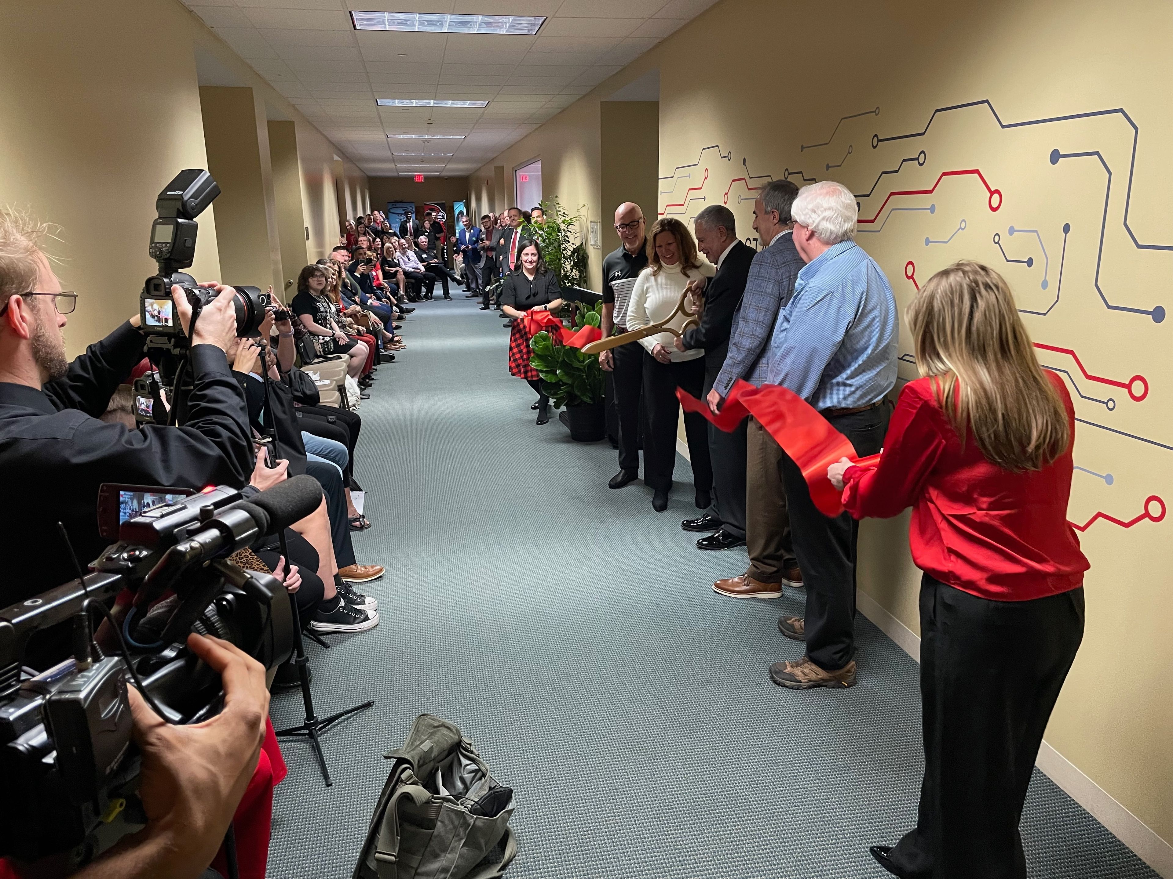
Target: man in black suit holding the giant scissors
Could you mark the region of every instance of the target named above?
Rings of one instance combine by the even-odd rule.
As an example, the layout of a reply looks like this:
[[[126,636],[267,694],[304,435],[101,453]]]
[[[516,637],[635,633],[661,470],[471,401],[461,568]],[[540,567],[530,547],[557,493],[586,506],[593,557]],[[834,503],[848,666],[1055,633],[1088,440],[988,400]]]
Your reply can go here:
[[[700,326],[685,331],[684,336],[676,340],[676,347],[677,350],[704,349],[704,393],[707,395],[725,363],[733,314],[741,304],[754,251],[738,240],[733,211],[725,205],[710,205],[698,213],[696,229],[697,246],[717,266],[717,274],[705,288]],[[745,422],[732,434],[708,425],[712,503],[700,518],[680,523],[685,531],[714,532],[697,540],[697,548],[728,550],[745,545]]]

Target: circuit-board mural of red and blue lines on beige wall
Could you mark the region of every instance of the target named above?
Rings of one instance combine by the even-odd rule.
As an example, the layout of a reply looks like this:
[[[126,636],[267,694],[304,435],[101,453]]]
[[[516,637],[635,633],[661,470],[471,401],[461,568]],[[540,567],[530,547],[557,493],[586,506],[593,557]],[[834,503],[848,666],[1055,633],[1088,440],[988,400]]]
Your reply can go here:
[[[927,107],[902,130],[884,124],[882,105],[845,109],[856,111],[826,130],[795,132],[802,139],[787,158],[764,161],[761,150],[746,155],[717,136],[699,141],[706,145],[662,171],[659,216],[691,225],[706,205],[724,204],[739,237],[759,246],[752,222],[762,185],[834,179],[855,193],[856,240],[902,307],[957,259],[995,267],[1039,362],[1063,376],[1076,403],[1072,525],[1152,529],[1161,539],[1169,489],[1154,479],[1173,465],[1171,395],[1159,369],[1173,332],[1173,223],[1152,211],[1133,217],[1144,186],[1141,124],[1119,107],[1005,118],[994,101],[976,100]],[[904,380],[916,376],[909,349],[902,326]]]

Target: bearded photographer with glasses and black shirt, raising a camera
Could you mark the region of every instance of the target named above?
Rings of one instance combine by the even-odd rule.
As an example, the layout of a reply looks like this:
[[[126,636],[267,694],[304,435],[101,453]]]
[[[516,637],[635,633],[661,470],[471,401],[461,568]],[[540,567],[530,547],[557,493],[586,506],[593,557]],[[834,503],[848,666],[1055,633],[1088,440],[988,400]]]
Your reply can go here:
[[[243,488],[253,468],[244,396],[224,354],[236,338],[232,288],[218,286],[196,323],[187,423],[130,430],[102,422],[143,357],[138,314],[67,363],[62,331],[77,294],[62,292],[38,246],[46,231],[0,210],[0,485],[8,499],[0,505],[0,533],[18,548],[0,574],[0,606],[76,575],[57,522],[83,565],[106,548],[97,532],[102,483]],[[187,332],[187,295],[179,287],[171,294]]]

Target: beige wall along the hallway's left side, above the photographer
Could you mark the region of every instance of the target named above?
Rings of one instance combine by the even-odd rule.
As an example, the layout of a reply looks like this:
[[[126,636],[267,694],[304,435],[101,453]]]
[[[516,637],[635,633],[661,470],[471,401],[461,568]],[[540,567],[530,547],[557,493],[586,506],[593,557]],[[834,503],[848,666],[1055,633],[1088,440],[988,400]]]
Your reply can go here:
[[[135,312],[155,272],[147,255],[155,197],[179,170],[208,166],[197,48],[297,122],[303,185],[318,189],[304,197],[304,225],[323,252],[333,246],[333,179],[321,186],[316,166],[343,154],[177,0],[4,0],[0,8],[0,204],[62,226],[49,250],[63,259],[66,287],[81,293],[67,329],[70,355]],[[259,151],[259,131],[256,139]],[[344,168],[365,192],[365,175],[345,158]],[[221,277],[217,244],[213,205],[199,217],[194,274]],[[265,241],[263,265],[277,246]],[[272,271],[258,275],[267,286]]]

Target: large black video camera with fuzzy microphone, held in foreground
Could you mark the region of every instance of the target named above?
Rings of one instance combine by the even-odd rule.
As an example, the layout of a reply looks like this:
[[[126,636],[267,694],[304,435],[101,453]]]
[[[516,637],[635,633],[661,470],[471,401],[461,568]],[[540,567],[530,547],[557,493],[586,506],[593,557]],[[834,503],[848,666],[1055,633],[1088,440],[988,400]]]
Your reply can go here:
[[[103,492],[114,498],[113,507],[100,504],[107,523],[118,515],[120,488],[138,486]],[[293,649],[283,585],[228,557],[313,512],[317,482],[296,476],[249,500],[226,486],[165,497],[121,524],[120,541],[93,573],[0,609],[0,777],[9,791],[0,798],[0,857],[66,852],[83,864],[145,823],[128,675],[164,720],[198,723],[221,710],[223,689],[188,649],[189,633],[231,641],[270,670]],[[93,604],[123,591],[130,607],[116,607],[91,639]],[[74,656],[42,674],[22,669],[29,639],[70,619]],[[108,653],[120,643],[127,655],[106,655],[100,642]]]

